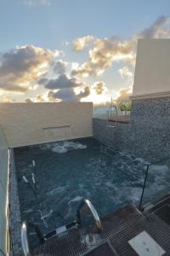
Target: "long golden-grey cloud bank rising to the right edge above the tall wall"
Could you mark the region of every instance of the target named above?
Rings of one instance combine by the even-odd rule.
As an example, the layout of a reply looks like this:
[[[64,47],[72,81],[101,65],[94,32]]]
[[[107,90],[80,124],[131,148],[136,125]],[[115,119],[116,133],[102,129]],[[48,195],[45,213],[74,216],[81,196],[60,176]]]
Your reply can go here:
[[[78,77],[99,76],[112,67],[116,61],[127,61],[134,65],[138,38],[169,38],[170,18],[160,16],[149,28],[137,33],[125,41],[121,38],[103,38],[94,40],[94,48],[88,52],[88,61],[72,69],[72,75]],[[81,44],[80,44],[81,45]]]

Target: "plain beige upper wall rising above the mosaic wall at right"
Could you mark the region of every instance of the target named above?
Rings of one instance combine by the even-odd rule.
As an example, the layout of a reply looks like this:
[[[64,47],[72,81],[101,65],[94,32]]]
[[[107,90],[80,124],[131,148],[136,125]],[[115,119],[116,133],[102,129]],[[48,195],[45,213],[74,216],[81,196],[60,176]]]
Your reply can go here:
[[[139,39],[133,97],[170,96],[170,39]]]

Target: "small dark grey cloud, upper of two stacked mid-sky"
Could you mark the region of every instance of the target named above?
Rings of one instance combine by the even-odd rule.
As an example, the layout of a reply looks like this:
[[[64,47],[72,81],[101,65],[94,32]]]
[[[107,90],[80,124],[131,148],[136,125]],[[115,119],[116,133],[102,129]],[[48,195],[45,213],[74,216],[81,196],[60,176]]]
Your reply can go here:
[[[54,89],[69,89],[80,87],[83,84],[78,83],[75,78],[68,78],[66,74],[60,74],[57,79],[40,79],[39,84],[43,84],[45,88],[54,90]]]

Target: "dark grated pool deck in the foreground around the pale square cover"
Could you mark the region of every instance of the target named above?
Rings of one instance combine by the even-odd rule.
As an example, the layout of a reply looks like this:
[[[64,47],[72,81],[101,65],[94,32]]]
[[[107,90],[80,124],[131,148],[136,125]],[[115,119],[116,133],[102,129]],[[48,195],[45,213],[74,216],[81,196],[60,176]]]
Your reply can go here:
[[[136,207],[123,207],[114,214],[101,218],[103,231],[98,237],[96,245],[89,247],[85,242],[88,234],[96,234],[94,225],[78,228],[65,236],[54,237],[37,247],[32,255],[124,255],[136,256],[133,247],[128,243],[134,236],[145,231],[159,244],[163,253],[170,255],[170,226],[155,213],[149,217],[139,212]],[[147,248],[147,250],[149,250]],[[151,255],[151,254],[141,254]]]

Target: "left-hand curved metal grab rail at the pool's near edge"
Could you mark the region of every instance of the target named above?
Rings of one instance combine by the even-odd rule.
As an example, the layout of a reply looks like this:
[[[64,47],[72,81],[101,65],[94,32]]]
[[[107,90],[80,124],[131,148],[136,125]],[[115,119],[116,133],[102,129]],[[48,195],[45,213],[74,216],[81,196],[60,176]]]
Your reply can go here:
[[[36,224],[31,224],[30,222],[24,221],[21,226],[21,244],[25,256],[31,256],[27,234],[28,227],[31,227],[33,230],[35,230],[41,244],[44,242],[44,237],[42,236],[42,232],[40,231],[39,227]]]

